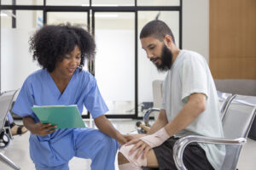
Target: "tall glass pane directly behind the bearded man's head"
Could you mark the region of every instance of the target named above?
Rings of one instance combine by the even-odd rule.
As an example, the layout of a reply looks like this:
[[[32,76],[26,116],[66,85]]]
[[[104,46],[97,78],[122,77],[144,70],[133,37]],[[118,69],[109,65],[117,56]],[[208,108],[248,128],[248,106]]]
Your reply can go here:
[[[152,105],[160,107],[154,102],[152,83],[154,80],[164,80],[166,77],[166,73],[157,71],[155,65],[147,58],[139,39],[143,26],[149,21],[155,20],[156,17],[170,26],[177,46],[179,44],[179,15],[177,11],[138,12],[138,116],[143,116],[143,113]]]

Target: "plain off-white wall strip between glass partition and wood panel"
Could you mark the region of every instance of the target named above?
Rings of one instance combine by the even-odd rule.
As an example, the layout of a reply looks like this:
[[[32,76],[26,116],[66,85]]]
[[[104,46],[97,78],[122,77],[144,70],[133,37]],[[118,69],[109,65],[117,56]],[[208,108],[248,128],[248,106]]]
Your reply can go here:
[[[209,0],[183,0],[183,49],[209,61]]]

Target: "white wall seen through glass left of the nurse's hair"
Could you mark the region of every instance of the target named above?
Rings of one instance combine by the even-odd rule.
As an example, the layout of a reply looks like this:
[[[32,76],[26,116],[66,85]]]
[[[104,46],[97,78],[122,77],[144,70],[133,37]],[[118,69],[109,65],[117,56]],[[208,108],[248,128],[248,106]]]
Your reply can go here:
[[[26,77],[39,69],[29,53],[29,36],[35,30],[4,29],[1,32],[1,90],[21,88]]]

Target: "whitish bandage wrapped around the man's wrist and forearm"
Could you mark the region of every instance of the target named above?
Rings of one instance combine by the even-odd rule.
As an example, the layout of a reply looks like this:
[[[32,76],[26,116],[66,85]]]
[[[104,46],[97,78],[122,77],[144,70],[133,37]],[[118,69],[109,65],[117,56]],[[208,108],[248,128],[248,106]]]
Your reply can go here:
[[[143,136],[140,139],[146,142],[151,148],[154,148],[160,146],[169,138],[170,135],[166,132],[166,128],[162,127],[157,132]]]

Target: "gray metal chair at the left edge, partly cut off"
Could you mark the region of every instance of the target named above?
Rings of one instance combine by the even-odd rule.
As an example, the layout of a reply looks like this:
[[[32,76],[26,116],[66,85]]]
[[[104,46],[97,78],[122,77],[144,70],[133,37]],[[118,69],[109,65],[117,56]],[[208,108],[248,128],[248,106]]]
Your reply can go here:
[[[8,92],[4,92],[0,95],[0,133],[5,134],[4,123],[6,121],[6,117],[10,108],[10,105],[14,99],[14,96],[18,90],[12,90]],[[6,135],[8,136],[8,135]],[[3,153],[0,153],[0,161],[9,165],[14,169],[20,169],[13,161],[11,161],[7,156],[4,156]]]

